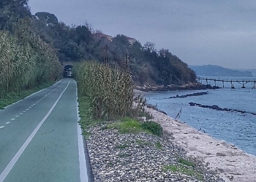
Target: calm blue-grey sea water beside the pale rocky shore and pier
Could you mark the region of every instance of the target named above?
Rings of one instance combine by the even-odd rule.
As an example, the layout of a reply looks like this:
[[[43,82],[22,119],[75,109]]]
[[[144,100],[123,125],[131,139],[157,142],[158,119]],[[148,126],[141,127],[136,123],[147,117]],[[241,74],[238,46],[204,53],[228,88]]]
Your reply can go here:
[[[238,79],[230,78],[233,80]],[[203,84],[205,83],[203,82]],[[214,82],[210,82],[210,84],[214,85]],[[222,87],[222,82],[217,83],[217,85]],[[150,92],[148,94],[148,103],[157,104],[159,109],[172,117],[176,117],[182,107],[179,119],[182,122],[186,122],[198,130],[201,128],[201,130],[205,130],[214,138],[225,140],[227,143],[234,143],[247,153],[256,155],[256,116],[189,106],[189,102],[195,102],[256,113],[256,89],[252,89],[252,84],[246,84],[246,89],[241,89],[241,84],[234,84],[234,86],[236,89],[231,90],[230,83],[227,83],[224,89],[208,90],[208,95],[188,98],[170,99],[169,97],[204,92],[204,90]]]

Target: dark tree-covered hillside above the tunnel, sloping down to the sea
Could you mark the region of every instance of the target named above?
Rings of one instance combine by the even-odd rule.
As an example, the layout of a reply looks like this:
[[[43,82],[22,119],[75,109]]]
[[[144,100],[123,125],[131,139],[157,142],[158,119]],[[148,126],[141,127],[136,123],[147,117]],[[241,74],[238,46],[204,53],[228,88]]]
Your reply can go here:
[[[127,36],[117,35],[112,41],[97,37],[91,25],[67,26],[48,12],[37,12],[34,26],[45,41],[58,50],[61,62],[98,60],[124,68],[129,60],[129,70],[135,84],[185,84],[195,82],[195,72],[188,68],[169,50],[155,49],[154,43],[133,44]]]

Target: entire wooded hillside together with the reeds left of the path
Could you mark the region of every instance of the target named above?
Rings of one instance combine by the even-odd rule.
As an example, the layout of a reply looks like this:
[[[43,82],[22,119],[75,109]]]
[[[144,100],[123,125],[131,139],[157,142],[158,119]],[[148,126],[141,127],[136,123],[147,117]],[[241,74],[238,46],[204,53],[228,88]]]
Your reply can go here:
[[[61,76],[63,62],[95,60],[118,70],[128,62],[133,84],[195,82],[195,72],[154,43],[131,44],[127,36],[97,38],[89,23],[68,26],[48,12],[31,15],[28,0],[0,1],[0,97]]]

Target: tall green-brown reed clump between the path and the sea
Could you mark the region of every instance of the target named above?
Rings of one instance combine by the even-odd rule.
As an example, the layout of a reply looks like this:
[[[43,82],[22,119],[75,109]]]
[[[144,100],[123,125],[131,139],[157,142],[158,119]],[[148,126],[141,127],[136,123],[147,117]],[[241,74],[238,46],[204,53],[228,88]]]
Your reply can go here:
[[[127,68],[118,70],[108,64],[84,61],[73,70],[80,95],[91,100],[94,117],[108,120],[131,112],[134,92]]]

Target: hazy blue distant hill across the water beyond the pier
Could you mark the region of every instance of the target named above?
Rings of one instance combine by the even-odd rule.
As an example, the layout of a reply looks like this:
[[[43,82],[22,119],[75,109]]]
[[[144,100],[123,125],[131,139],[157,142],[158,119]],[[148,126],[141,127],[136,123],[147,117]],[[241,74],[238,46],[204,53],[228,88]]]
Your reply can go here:
[[[252,77],[250,71],[238,71],[216,65],[189,66],[197,76],[243,76]]]

